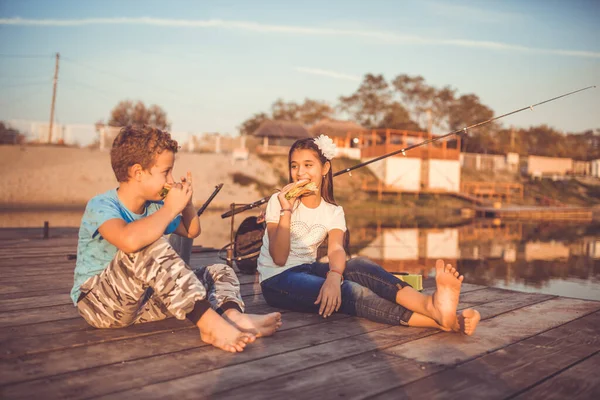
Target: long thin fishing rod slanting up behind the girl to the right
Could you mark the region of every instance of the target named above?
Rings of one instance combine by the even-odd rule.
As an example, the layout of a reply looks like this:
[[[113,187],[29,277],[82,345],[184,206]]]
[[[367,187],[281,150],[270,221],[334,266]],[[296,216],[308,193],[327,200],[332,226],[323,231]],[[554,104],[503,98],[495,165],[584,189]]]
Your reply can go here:
[[[436,136],[435,138],[427,139],[427,140],[424,140],[424,141],[422,141],[422,142],[420,142],[420,143],[413,144],[413,145],[410,145],[410,146],[408,146],[408,147],[405,147],[405,148],[403,148],[403,149],[396,150],[396,151],[393,151],[393,152],[391,152],[391,153],[388,153],[388,154],[384,154],[384,155],[382,155],[382,156],[379,156],[379,157],[376,157],[376,158],[374,158],[374,159],[372,159],[372,160],[365,161],[365,162],[362,162],[362,163],[360,163],[360,164],[356,164],[356,165],[354,165],[354,166],[352,166],[352,167],[350,167],[350,168],[345,168],[345,169],[342,169],[342,170],[340,170],[340,171],[338,171],[338,172],[334,173],[334,174],[333,174],[333,176],[335,177],[335,176],[343,175],[343,174],[345,174],[345,173],[348,173],[348,172],[354,171],[355,169],[362,168],[362,167],[364,167],[364,166],[367,166],[367,165],[369,165],[369,164],[372,164],[372,163],[374,163],[374,162],[376,162],[376,161],[383,160],[384,158],[388,158],[388,157],[391,157],[391,156],[395,156],[396,154],[402,154],[403,156],[405,156],[405,157],[406,157],[406,152],[407,152],[407,151],[409,151],[409,150],[412,150],[412,149],[415,149],[415,148],[417,148],[417,147],[421,147],[421,146],[424,146],[424,145],[426,145],[426,144],[429,144],[429,143],[434,143],[434,142],[437,142],[437,141],[439,141],[439,140],[444,140],[444,139],[446,139],[446,138],[448,138],[448,137],[450,137],[450,136],[453,136],[453,135],[457,135],[457,136],[458,136],[458,135],[463,135],[463,134],[466,134],[466,133],[467,133],[469,130],[471,130],[471,129],[478,128],[478,127],[480,127],[480,126],[483,126],[483,125],[487,125],[487,124],[489,124],[490,122],[493,122],[493,121],[499,120],[499,119],[501,119],[501,118],[504,118],[504,117],[508,117],[509,115],[517,114],[517,113],[520,113],[521,111],[525,111],[525,110],[531,110],[531,111],[533,111],[533,108],[534,108],[534,107],[540,106],[540,105],[542,105],[542,104],[550,103],[551,101],[558,100],[558,99],[560,99],[560,98],[563,98],[563,97],[571,96],[572,94],[579,93],[579,92],[582,92],[582,91],[584,91],[584,90],[588,90],[588,89],[595,89],[595,88],[596,88],[596,86],[595,86],[595,85],[594,85],[594,86],[588,86],[588,87],[585,87],[585,88],[583,88],[583,89],[574,90],[574,91],[572,91],[572,92],[565,93],[565,94],[562,94],[562,95],[560,95],[560,96],[556,96],[556,97],[553,97],[553,98],[551,98],[551,99],[544,100],[544,101],[541,101],[541,102],[539,102],[539,103],[536,103],[536,104],[532,104],[532,105],[530,105],[530,106],[527,106],[527,107],[519,108],[518,110],[514,110],[514,111],[508,112],[508,113],[506,113],[506,114],[502,114],[502,115],[499,115],[499,116],[497,116],[497,117],[490,118],[490,119],[488,119],[488,120],[485,120],[485,121],[482,121],[482,122],[478,122],[478,123],[476,123],[476,124],[473,124],[473,125],[470,125],[470,126],[467,126],[467,127],[461,128],[461,129],[454,130],[454,131],[452,131],[452,132],[449,132],[449,133],[446,133],[446,134],[444,134],[444,135],[442,135],[442,136]],[[261,206],[262,204],[264,204],[264,203],[266,203],[267,201],[269,201],[269,198],[270,198],[270,197],[271,197],[271,196],[267,196],[267,197],[264,197],[264,198],[262,198],[262,199],[260,199],[260,200],[258,200],[258,201],[255,201],[254,203],[245,204],[245,205],[242,205],[242,206],[240,206],[240,207],[238,207],[238,208],[232,208],[231,210],[229,210],[229,211],[227,211],[226,213],[222,214],[222,215],[221,215],[221,218],[223,218],[223,219],[224,219],[224,218],[228,218],[228,217],[231,217],[231,216],[233,216],[233,215],[235,215],[235,214],[239,214],[239,213],[241,213],[241,212],[243,212],[243,211],[247,211],[247,210],[250,210],[250,209],[256,208],[256,207],[258,207],[258,206]]]

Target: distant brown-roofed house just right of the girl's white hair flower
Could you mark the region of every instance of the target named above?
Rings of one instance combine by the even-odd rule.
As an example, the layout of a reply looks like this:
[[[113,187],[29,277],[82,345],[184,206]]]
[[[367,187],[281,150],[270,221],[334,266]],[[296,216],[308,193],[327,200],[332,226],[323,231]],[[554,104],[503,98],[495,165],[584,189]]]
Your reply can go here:
[[[328,118],[320,120],[308,130],[314,137],[329,136],[337,145],[339,155],[355,159],[360,159],[360,137],[368,133],[356,122]]]

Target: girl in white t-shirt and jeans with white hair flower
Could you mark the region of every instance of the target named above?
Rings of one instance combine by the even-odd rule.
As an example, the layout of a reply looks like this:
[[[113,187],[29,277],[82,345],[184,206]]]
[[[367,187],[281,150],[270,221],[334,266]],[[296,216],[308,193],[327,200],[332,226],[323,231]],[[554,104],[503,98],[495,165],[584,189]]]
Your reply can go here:
[[[333,196],[333,141],[321,135],[296,141],[289,152],[289,181],[267,205],[267,230],[258,257],[263,296],[278,308],[334,311],[375,322],[473,334],[480,315],[468,309],[457,315],[463,276],[450,264],[436,262],[432,296],[365,258],[346,261],[344,210]],[[318,190],[286,198],[293,188],[313,182]],[[317,248],[329,236],[329,263],[316,262]]]

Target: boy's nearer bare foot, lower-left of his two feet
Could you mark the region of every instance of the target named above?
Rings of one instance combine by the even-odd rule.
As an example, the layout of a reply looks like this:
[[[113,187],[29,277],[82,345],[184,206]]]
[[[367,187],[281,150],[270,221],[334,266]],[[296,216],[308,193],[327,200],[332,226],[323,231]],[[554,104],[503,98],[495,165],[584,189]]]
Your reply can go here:
[[[197,326],[203,342],[230,353],[243,351],[246,344],[256,340],[253,334],[240,332],[213,309],[208,309],[202,315]]]

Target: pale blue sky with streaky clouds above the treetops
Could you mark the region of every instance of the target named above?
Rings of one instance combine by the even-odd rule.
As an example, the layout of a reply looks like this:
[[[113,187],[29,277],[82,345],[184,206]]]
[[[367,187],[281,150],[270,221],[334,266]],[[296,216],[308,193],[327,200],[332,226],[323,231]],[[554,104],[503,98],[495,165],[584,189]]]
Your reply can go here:
[[[0,120],[49,120],[57,52],[64,124],[130,99],[180,139],[237,135],[278,98],[336,105],[367,73],[421,75],[499,115],[599,85],[599,21],[598,0],[0,0]],[[600,87],[502,123],[600,128]]]

